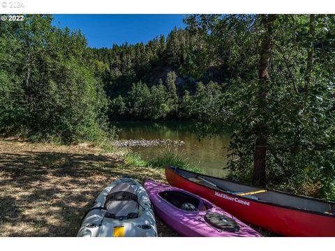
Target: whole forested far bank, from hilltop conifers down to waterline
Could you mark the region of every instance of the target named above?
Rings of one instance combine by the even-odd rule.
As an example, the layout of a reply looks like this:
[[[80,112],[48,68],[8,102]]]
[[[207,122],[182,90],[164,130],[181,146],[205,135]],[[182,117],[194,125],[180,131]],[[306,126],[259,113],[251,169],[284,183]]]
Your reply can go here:
[[[197,119],[188,107],[190,93],[195,94],[198,82],[223,82],[228,74],[221,69],[225,66],[212,64],[210,47],[200,35],[173,29],[167,38],[145,45],[92,49],[104,66],[101,79],[112,100],[110,119]]]

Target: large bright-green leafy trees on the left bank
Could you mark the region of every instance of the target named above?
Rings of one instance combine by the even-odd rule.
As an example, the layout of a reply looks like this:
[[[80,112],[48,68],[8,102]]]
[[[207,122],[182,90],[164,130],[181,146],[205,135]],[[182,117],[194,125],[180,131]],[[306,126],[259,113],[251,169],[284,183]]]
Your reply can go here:
[[[50,15],[0,26],[0,130],[63,143],[106,137],[99,62],[80,31]]]

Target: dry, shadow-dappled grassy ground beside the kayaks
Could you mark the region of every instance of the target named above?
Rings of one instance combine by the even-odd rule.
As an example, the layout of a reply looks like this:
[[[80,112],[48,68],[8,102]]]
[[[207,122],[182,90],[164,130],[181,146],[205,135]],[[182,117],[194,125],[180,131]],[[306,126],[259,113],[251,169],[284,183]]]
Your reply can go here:
[[[121,176],[166,182],[161,169],[125,167],[118,153],[86,144],[0,140],[0,236],[76,236],[82,215]],[[178,236],[156,218],[158,236]]]

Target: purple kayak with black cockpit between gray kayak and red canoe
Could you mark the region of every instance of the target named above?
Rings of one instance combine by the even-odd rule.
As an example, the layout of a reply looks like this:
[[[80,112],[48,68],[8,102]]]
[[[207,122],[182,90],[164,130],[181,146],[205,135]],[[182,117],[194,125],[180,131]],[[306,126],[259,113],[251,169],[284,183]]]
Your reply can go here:
[[[234,216],[191,192],[152,180],[144,182],[155,213],[172,229],[189,237],[260,237]]]

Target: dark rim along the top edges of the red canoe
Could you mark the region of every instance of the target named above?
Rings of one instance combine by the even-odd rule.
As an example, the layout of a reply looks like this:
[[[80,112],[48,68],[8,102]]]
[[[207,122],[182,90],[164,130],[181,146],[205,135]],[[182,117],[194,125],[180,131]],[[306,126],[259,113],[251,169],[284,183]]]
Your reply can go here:
[[[244,184],[244,183],[239,183],[239,182],[235,182],[235,181],[229,181],[228,179],[225,179],[225,178],[218,178],[218,177],[215,177],[215,176],[210,176],[210,175],[207,175],[207,174],[198,174],[196,172],[192,172],[192,171],[189,171],[189,170],[186,170],[186,169],[182,169],[182,168],[179,168],[179,167],[174,167],[174,166],[166,166],[165,169],[168,168],[168,169],[171,169],[172,172],[174,172],[174,174],[176,174],[177,176],[183,178],[184,180],[188,181],[188,182],[191,182],[191,183],[194,183],[196,185],[200,185],[204,188],[209,188],[211,190],[214,190],[214,191],[217,191],[217,192],[224,192],[228,195],[231,195],[231,196],[235,196],[235,197],[239,197],[241,199],[244,199],[246,201],[253,201],[253,202],[257,202],[257,203],[260,203],[260,204],[267,204],[269,206],[275,206],[275,207],[281,207],[281,208],[287,208],[287,209],[290,209],[290,210],[295,210],[295,211],[299,211],[301,213],[311,213],[311,214],[315,214],[315,215],[320,215],[320,216],[325,216],[325,217],[329,217],[329,218],[335,218],[335,215],[334,214],[331,214],[331,213],[320,213],[318,211],[311,211],[311,210],[308,210],[308,209],[304,209],[304,208],[297,208],[297,207],[293,207],[293,206],[285,206],[285,205],[281,205],[281,204],[276,204],[276,203],[273,203],[273,202],[270,202],[270,201],[264,201],[262,199],[251,199],[249,197],[244,197],[244,196],[240,196],[238,194],[234,194],[232,192],[229,192],[229,191],[226,191],[226,190],[221,190],[219,188],[212,188],[212,187],[209,187],[208,185],[203,185],[201,183],[196,183],[195,181],[191,181],[189,180],[188,178],[185,178],[184,176],[182,176],[181,174],[178,174],[176,171],[177,169],[183,171],[183,172],[188,172],[188,173],[191,173],[191,174],[197,174],[197,175],[201,175],[201,176],[204,176],[204,177],[209,177],[209,178],[216,178],[218,180],[222,180],[222,181],[228,181],[228,182],[232,182],[232,183],[237,183],[239,185],[247,185],[247,184]],[[251,185],[247,185],[247,186],[251,186]],[[263,188],[258,188],[258,187],[253,187],[255,189],[263,189]],[[304,196],[304,195],[292,195],[288,192],[282,192],[282,191],[278,191],[278,190],[271,190],[271,189],[267,189],[268,191],[271,191],[271,192],[276,192],[276,193],[281,193],[283,195],[290,195],[292,197],[297,197],[297,198],[304,198],[304,199],[308,199],[308,200],[311,200],[311,201],[318,201],[318,202],[322,202],[322,203],[325,203],[325,204],[331,204],[332,207],[335,206],[335,202],[333,201],[327,201],[327,200],[322,200],[322,199],[316,199],[316,198],[313,198],[313,197],[308,197],[308,196]]]

